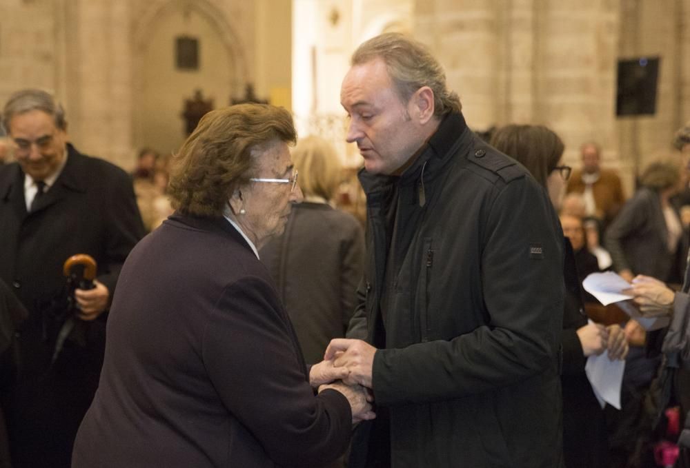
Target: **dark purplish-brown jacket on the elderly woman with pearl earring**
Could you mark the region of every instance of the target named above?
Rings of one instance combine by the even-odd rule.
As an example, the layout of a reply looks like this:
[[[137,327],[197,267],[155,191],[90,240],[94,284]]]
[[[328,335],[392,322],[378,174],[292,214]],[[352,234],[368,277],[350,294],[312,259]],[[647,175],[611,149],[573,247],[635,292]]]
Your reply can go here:
[[[128,258],[74,468],[309,467],[351,411],[314,396],[268,270],[224,218],[173,214]]]

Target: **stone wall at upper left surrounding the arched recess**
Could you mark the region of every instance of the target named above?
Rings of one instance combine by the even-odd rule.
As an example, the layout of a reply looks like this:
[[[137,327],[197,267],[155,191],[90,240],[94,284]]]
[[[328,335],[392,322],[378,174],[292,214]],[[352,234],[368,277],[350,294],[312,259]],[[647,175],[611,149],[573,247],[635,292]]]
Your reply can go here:
[[[282,8],[267,8],[271,1]],[[130,168],[137,148],[150,144],[141,131],[146,119],[141,114],[142,93],[150,92],[144,83],[147,41],[171,11],[189,8],[208,19],[208,29],[219,37],[229,57],[215,64],[225,67],[229,77],[219,105],[226,105],[230,95],[242,96],[246,83],[255,81],[259,72],[264,77],[266,67],[289,57],[289,40],[257,45],[256,23],[259,11],[262,22],[282,21],[280,34],[289,37],[290,0],[2,0],[0,102],[21,88],[54,92],[68,113],[70,140],[84,152]],[[267,50],[257,50],[260,47]],[[168,45],[162,53],[170,53]],[[262,70],[257,69],[257,56],[262,57]],[[279,70],[264,78],[262,88],[257,88],[259,96],[267,96],[273,88],[286,94],[290,69]],[[181,108],[190,91],[157,93],[159,99]],[[181,129],[182,121],[168,125]]]

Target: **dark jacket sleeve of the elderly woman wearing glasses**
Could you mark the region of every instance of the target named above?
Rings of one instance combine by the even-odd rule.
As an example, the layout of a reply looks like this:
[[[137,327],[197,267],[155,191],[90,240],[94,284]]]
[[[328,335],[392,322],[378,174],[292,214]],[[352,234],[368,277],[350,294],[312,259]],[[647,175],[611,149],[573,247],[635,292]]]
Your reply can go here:
[[[350,405],[335,390],[314,396],[287,320],[273,289],[245,278],[221,296],[206,324],[201,357],[230,414],[272,460],[325,464],[348,445]]]

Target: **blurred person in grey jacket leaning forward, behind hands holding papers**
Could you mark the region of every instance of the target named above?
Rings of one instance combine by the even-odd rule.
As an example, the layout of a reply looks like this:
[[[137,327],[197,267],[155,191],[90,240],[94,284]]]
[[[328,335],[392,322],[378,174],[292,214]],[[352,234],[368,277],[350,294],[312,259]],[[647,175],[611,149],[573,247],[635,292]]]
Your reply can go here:
[[[670,199],[681,188],[678,162],[655,161],[640,176],[640,188],[625,203],[604,234],[613,270],[626,281],[642,274],[678,285],[682,283],[685,232]],[[660,356],[645,352],[644,328],[633,319],[625,323],[631,345],[621,391],[622,411],[608,411],[615,467],[642,463],[649,428],[644,426],[644,399],[660,365]]]

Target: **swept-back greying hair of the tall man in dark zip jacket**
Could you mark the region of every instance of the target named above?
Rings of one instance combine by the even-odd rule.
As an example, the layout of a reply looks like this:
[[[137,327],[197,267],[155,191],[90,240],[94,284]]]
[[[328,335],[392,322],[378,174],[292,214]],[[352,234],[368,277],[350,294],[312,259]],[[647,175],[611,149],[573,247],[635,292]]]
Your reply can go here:
[[[351,65],[361,65],[381,58],[400,99],[406,103],[422,86],[434,95],[434,115],[444,116],[460,112],[460,98],[446,87],[446,74],[428,48],[404,34],[388,32],[359,45],[352,55]]]

